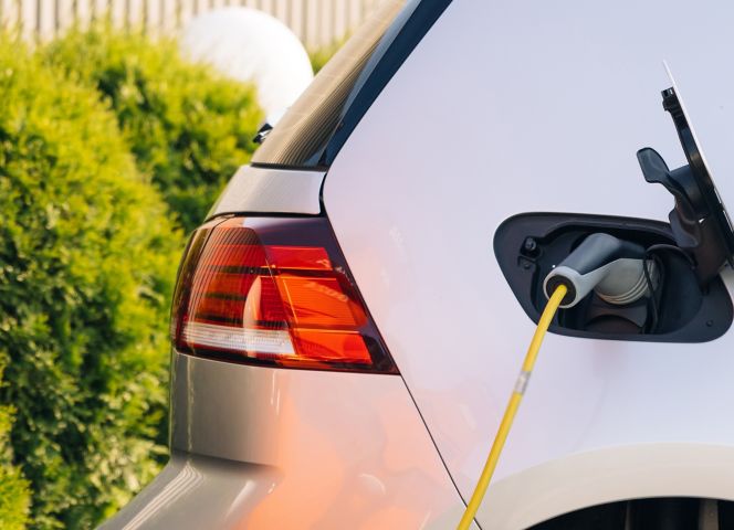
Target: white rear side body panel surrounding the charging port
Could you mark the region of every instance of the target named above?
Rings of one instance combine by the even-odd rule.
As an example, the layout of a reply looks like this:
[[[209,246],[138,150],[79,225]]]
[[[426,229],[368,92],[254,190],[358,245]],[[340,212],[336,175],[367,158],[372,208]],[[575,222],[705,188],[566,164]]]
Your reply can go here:
[[[732,20],[728,2],[454,0],[332,166],[324,208],[464,499],[535,328],[500,271],[495,230],[524,212],[667,220],[672,197],[635,157],[652,146],[672,167],[684,160],[661,108],[663,59],[734,204]],[[731,294],[734,276],[723,277]],[[698,344],[548,336],[479,522],[517,521],[523,498],[491,499],[574,455],[683,444],[684,459],[704,444],[731,459],[732,351],[731,330]],[[610,497],[596,479],[588,504]],[[650,480],[658,495],[734,498],[725,480]],[[628,486],[611,497],[638,491]],[[572,504],[555,498],[532,519]]]

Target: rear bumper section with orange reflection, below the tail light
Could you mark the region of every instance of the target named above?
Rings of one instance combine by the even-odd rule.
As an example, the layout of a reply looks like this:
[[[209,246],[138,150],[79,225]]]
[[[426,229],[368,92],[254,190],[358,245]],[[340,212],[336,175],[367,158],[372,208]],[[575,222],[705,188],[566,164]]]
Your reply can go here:
[[[105,530],[442,529],[461,518],[400,377],[175,353],[171,386],[172,460]],[[191,506],[200,516],[182,519]]]

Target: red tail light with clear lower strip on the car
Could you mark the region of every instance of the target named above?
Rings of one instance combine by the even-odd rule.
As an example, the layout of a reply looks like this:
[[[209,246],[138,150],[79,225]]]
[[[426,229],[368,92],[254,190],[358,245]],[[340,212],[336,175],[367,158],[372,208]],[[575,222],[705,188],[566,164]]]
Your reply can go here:
[[[325,218],[229,218],[191,236],[171,333],[184,353],[398,373]]]

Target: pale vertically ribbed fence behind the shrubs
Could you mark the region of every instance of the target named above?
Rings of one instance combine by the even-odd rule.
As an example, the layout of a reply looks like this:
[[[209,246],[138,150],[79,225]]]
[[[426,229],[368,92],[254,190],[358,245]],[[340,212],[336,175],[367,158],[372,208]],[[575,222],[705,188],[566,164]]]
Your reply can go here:
[[[223,6],[247,6],[287,24],[306,47],[331,44],[357,26],[380,0],[0,0],[0,24],[28,39],[48,40],[74,23],[109,18],[120,28],[171,33],[192,17]]]

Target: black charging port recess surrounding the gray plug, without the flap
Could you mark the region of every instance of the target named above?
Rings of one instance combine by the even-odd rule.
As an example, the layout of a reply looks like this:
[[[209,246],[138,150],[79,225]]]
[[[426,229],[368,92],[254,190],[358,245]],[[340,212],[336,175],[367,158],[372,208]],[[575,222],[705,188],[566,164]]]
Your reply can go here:
[[[546,297],[543,280],[588,235],[604,232],[642,246],[675,245],[667,223],[631,218],[566,213],[526,213],[504,221],[494,235],[494,252],[512,292],[537,322]],[[595,339],[656,342],[705,342],[730,328],[732,301],[716,276],[701,286],[695,267],[680,253],[656,252],[660,278],[654,289],[658,318],[649,297],[614,306],[595,294],[558,311],[549,330]]]

